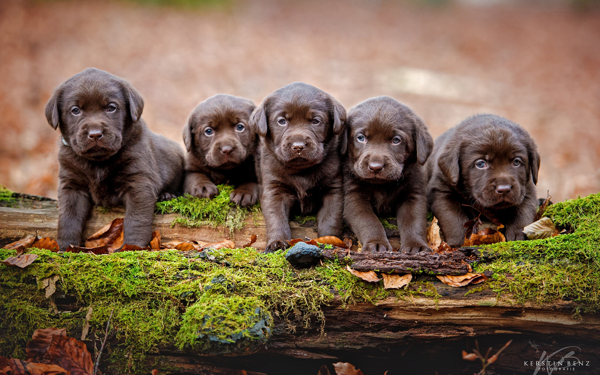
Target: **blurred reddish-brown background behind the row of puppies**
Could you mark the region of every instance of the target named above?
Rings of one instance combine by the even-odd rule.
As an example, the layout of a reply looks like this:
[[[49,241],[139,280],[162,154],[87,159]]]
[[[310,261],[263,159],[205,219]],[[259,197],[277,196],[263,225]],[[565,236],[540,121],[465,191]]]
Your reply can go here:
[[[224,92],[290,82],[349,108],[391,95],[434,137],[479,112],[538,142],[538,196],[600,191],[600,11],[568,1],[0,1],[0,183],[56,197],[53,88],[86,67],[140,91],[152,130],[181,142]],[[585,4],[584,4],[585,5]]]

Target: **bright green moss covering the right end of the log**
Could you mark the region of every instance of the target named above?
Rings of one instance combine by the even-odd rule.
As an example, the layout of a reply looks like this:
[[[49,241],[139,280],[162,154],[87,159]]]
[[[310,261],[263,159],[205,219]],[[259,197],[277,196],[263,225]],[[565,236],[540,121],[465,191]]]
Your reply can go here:
[[[501,242],[482,250],[495,251],[490,286],[517,302],[544,304],[575,301],[575,313],[600,310],[600,193],[548,207],[545,216],[573,233],[535,241]]]

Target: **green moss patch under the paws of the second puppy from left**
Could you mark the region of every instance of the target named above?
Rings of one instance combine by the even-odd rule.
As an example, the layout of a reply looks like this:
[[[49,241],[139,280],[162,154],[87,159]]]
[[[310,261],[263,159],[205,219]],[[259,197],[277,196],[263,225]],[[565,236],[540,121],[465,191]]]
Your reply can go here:
[[[157,211],[161,214],[173,213],[181,215],[173,224],[187,227],[223,226],[233,233],[242,229],[249,213],[259,212],[260,206],[244,208],[231,202],[229,195],[233,191],[230,185],[217,185],[219,193],[213,199],[196,198],[190,194],[176,197],[164,202],[157,202]]]

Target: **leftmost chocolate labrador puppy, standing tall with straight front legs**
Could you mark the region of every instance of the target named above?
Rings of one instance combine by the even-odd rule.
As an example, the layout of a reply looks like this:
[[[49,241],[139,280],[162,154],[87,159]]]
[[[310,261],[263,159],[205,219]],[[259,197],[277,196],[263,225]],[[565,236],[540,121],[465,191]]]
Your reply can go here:
[[[46,104],[46,119],[61,129],[58,152],[58,245],[82,242],[92,203],[125,205],[124,243],[146,246],[159,197],[179,193],[184,154],[172,140],[152,133],[144,102],[130,83],[88,68],[59,86]]]

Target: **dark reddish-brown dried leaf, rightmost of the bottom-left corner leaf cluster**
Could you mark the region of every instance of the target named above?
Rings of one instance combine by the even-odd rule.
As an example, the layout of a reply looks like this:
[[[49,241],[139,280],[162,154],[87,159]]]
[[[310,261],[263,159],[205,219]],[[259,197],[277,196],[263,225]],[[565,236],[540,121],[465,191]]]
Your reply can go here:
[[[71,371],[71,375],[92,375],[94,362],[84,343],[73,337],[53,335],[48,347],[50,363]]]

